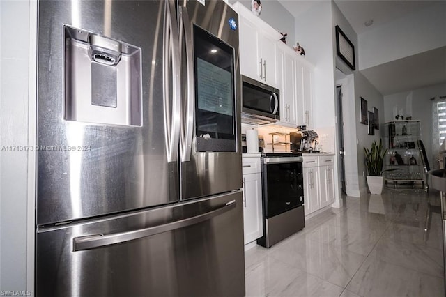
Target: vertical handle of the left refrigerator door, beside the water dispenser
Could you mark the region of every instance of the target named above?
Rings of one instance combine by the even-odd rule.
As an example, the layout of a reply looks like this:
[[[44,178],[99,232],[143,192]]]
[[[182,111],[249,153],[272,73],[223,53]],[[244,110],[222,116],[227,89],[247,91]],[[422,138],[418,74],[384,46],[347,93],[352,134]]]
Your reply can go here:
[[[167,162],[176,162],[178,142],[180,139],[180,46],[178,25],[176,22],[174,1],[166,1],[166,15],[164,18],[164,51],[163,79],[164,79],[164,135],[166,139]],[[166,24],[167,22],[167,24]],[[169,104],[169,66],[172,65],[172,108]],[[172,110],[170,110],[172,109]]]

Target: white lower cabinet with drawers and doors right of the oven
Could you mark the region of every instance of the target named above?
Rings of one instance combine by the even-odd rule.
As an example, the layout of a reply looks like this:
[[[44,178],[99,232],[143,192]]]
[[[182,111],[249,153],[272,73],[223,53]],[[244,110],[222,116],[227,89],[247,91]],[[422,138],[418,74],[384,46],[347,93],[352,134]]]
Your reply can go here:
[[[334,155],[304,155],[305,215],[334,202],[333,162]]]

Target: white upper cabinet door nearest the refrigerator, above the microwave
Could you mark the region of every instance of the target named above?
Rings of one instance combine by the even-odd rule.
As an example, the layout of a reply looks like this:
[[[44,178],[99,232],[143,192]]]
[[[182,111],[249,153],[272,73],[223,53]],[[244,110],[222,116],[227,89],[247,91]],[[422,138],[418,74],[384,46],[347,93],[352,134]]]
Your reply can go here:
[[[260,31],[255,24],[240,15],[239,40],[240,40],[240,73],[261,80],[260,77]]]

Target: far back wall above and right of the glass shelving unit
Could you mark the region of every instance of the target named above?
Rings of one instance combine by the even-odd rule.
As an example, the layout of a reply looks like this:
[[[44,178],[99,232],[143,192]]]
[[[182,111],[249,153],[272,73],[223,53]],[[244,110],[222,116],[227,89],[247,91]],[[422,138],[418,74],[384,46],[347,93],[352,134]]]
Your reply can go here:
[[[412,116],[413,120],[420,120],[421,139],[426,147],[426,153],[429,158],[429,165],[436,165],[435,156],[432,151],[432,102],[431,98],[446,95],[446,84],[436,84],[422,89],[396,93],[384,96],[384,119],[385,121],[394,121],[395,116],[400,114]]]

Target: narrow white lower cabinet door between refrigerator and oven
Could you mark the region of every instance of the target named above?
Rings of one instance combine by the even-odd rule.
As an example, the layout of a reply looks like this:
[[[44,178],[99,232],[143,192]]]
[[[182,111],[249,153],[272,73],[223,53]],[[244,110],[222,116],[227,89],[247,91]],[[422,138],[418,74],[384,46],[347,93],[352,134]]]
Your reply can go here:
[[[243,174],[245,244],[263,236],[261,174]]]

